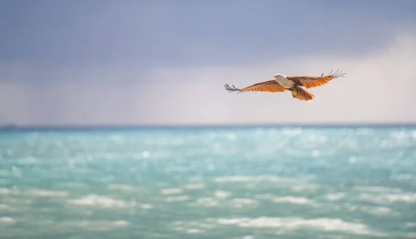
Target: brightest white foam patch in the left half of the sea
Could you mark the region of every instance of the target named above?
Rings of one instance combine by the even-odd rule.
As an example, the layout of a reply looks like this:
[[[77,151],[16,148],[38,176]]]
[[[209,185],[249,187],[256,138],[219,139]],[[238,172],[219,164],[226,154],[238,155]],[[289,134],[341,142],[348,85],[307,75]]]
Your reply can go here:
[[[90,194],[82,198],[69,200],[69,203],[79,206],[90,207],[135,207],[135,202],[125,202],[123,200],[116,200],[106,195]]]

